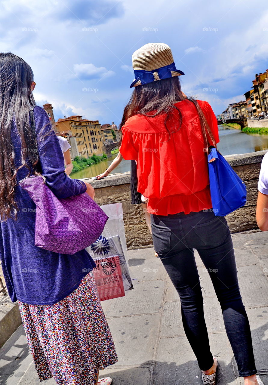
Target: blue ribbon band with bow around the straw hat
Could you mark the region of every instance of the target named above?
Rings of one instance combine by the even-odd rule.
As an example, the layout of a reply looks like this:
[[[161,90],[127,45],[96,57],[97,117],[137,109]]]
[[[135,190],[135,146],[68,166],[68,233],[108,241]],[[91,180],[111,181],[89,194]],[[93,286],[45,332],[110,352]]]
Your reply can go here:
[[[175,63],[164,65],[151,71],[134,70],[135,79],[130,85],[130,88],[136,85],[142,85],[154,82],[156,80],[168,79],[169,77],[184,75],[184,72],[177,70]]]

